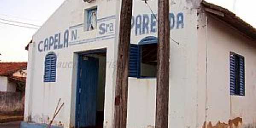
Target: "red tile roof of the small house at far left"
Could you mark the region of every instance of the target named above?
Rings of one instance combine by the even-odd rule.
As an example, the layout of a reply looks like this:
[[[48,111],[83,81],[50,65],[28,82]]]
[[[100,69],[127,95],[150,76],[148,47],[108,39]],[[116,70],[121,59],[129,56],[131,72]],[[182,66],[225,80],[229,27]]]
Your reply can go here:
[[[0,76],[9,76],[27,67],[27,62],[3,62],[0,63]]]

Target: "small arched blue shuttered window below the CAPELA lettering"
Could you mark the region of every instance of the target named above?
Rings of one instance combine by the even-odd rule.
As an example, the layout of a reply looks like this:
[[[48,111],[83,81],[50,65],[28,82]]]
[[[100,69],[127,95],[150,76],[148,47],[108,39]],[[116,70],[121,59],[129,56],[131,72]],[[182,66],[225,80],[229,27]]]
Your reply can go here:
[[[55,82],[56,62],[57,56],[54,52],[50,52],[46,55],[44,62],[44,82]]]

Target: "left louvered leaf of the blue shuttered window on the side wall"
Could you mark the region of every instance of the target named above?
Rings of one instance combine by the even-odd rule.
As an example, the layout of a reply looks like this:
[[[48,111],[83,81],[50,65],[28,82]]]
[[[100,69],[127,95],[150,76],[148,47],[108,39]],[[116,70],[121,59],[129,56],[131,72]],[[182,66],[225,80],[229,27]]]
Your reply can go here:
[[[235,95],[236,86],[236,57],[230,55],[230,94]]]

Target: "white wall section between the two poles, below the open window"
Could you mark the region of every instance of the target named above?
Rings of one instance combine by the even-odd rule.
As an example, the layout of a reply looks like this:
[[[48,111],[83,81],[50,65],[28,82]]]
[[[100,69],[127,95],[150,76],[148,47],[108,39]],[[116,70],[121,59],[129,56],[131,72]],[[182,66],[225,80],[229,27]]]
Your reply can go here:
[[[156,79],[129,78],[127,128],[150,128],[155,124]]]

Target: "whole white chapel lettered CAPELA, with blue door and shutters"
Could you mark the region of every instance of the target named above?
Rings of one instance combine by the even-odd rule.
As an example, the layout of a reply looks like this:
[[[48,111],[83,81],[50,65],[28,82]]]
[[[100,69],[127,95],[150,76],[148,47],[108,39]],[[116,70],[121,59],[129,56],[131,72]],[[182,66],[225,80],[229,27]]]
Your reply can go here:
[[[114,127],[121,0],[86,1],[65,0],[26,47],[26,122],[49,123],[61,99],[53,125]],[[147,2],[133,0],[127,128],[155,125],[157,0]],[[169,19],[169,128],[255,128],[256,29],[201,0],[170,0]]]

